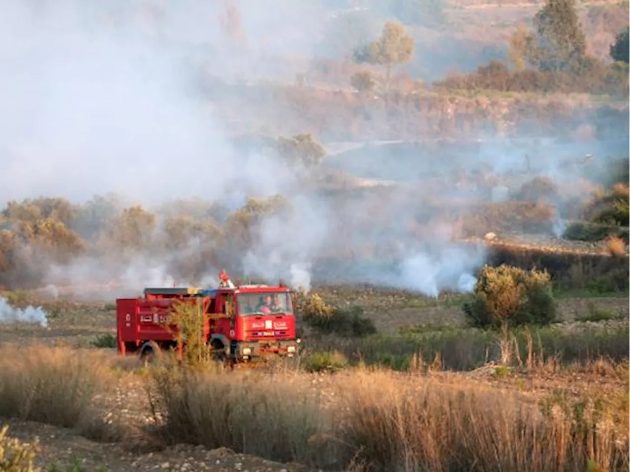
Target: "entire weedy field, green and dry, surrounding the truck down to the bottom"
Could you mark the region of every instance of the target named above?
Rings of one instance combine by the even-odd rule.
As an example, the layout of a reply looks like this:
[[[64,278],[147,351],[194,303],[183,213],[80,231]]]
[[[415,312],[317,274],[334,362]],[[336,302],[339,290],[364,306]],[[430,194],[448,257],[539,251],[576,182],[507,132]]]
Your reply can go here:
[[[50,317],[47,327],[0,327],[1,423],[9,437],[39,438],[35,463],[45,468],[630,467],[624,293],[559,291],[558,318],[505,337],[466,325],[473,295],[315,289],[321,303],[373,320],[375,332],[325,334],[301,315],[299,362],[246,371],[168,356],[142,366],[115,353],[112,303],[5,293]]]

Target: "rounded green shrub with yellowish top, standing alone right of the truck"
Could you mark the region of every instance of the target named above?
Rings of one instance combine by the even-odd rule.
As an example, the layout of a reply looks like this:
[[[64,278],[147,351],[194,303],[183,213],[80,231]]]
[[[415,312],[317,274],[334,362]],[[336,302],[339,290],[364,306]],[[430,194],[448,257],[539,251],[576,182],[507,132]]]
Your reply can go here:
[[[525,271],[505,264],[484,266],[474,295],[474,300],[462,307],[473,327],[546,325],[556,320],[551,278],[546,271]]]

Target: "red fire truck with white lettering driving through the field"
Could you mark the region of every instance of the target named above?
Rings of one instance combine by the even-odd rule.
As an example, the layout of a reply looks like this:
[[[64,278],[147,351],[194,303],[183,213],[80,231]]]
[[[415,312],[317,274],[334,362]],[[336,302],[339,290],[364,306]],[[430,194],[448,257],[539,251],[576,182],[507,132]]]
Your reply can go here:
[[[167,322],[175,300],[197,298],[203,310],[203,335],[218,358],[232,362],[255,361],[266,354],[293,357],[300,340],[295,337],[291,290],[279,284],[235,286],[221,271],[216,289],[146,288],[144,297],[116,300],[118,352],[140,357],[155,349],[178,346],[175,327]]]

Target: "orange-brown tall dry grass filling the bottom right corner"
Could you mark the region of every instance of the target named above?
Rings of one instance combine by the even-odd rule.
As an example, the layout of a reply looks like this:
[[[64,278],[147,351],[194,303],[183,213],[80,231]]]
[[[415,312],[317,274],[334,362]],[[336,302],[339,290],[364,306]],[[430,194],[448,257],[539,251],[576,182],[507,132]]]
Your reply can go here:
[[[374,385],[390,385],[374,388]],[[372,387],[370,387],[372,386]],[[588,459],[627,470],[630,454],[605,415],[559,403],[545,411],[517,393],[471,385],[398,381],[388,374],[348,379],[345,441],[372,470],[583,471]]]

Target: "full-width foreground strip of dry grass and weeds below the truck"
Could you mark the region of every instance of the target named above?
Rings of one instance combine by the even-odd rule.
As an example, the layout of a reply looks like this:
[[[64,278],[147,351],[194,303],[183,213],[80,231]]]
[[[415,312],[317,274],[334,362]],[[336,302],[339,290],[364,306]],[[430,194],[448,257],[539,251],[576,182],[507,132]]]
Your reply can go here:
[[[18,434],[32,439],[25,425],[40,422],[125,451],[103,454],[101,469],[132,463],[178,469],[186,461],[194,467],[201,460],[195,458],[209,454],[203,451],[222,447],[230,451],[224,456],[276,461],[266,469],[278,471],[297,464],[304,470],[532,472],[630,466],[625,364],[559,369],[549,394],[535,388],[549,376],[545,366],[474,375],[368,368],[325,375],[226,372],[168,361],[142,368],[104,352],[44,346],[3,348],[0,359],[1,414]],[[571,383],[574,376],[581,381]],[[598,393],[605,383],[616,387]],[[198,447],[194,454],[173,448],[180,443]],[[190,457],[156,464],[147,448],[156,458],[178,450]],[[215,465],[204,469],[221,469]]]

